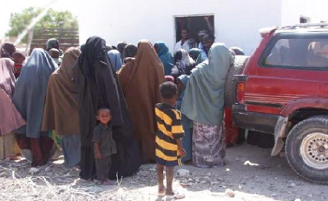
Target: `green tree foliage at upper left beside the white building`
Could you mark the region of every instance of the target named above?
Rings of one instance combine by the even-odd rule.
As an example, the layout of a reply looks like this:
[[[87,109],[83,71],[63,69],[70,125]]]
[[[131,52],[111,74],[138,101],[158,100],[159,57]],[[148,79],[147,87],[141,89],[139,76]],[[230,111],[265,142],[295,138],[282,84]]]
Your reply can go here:
[[[9,26],[10,30],[6,33],[8,37],[18,36],[30,24],[33,18],[42,12],[41,8],[27,8],[21,13],[12,13]],[[64,29],[77,29],[78,22],[76,17],[69,11],[54,11],[49,9],[47,14],[35,25],[35,29],[58,28],[63,24]],[[26,38],[22,42],[26,42]]]

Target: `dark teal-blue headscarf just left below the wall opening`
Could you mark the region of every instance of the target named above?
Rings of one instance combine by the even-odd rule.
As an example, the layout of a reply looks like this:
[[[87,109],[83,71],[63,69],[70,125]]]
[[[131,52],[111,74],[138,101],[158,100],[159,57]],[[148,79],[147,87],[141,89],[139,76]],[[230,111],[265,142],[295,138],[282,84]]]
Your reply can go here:
[[[154,44],[154,48],[157,52],[159,59],[164,65],[165,75],[171,75],[171,70],[174,64],[173,64],[173,57],[169,52],[168,46],[164,42],[158,41]]]

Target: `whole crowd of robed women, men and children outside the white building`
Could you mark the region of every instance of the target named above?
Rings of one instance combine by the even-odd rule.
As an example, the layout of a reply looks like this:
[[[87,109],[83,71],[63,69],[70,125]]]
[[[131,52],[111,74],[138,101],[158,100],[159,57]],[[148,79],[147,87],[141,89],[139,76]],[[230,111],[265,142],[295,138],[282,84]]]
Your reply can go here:
[[[63,52],[49,39],[27,58],[2,44],[0,159],[20,153],[42,166],[61,149],[67,167],[103,183],[144,163],[225,165],[224,86],[242,51],[205,32],[189,48],[181,33],[173,55],[147,40],[115,47],[90,37]]]

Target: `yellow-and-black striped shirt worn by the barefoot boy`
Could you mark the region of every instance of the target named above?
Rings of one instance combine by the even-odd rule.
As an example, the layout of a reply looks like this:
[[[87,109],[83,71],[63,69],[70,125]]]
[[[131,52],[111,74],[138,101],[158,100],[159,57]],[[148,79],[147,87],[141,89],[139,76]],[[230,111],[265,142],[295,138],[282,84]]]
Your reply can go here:
[[[156,161],[163,161],[162,163],[165,164],[162,165],[178,165],[180,153],[176,139],[180,139],[184,135],[181,113],[167,104],[156,104],[155,115],[158,127]]]

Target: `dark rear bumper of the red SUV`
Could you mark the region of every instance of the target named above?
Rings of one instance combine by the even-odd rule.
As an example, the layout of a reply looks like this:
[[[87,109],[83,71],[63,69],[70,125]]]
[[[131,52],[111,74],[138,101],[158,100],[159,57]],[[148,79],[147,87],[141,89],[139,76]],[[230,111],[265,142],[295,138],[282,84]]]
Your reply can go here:
[[[248,112],[241,104],[235,104],[232,109],[233,123],[243,129],[274,134],[278,118],[278,115]]]

